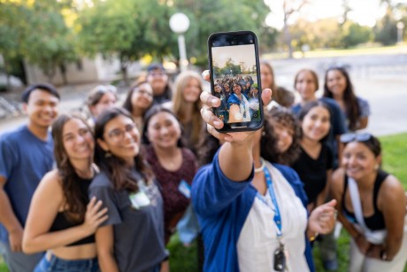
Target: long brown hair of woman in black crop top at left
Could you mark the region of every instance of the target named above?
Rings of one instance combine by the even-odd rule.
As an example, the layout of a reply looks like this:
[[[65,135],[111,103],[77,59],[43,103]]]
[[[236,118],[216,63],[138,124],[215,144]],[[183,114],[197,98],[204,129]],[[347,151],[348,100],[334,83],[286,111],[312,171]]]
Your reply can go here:
[[[52,124],[52,138],[54,139],[54,156],[57,162],[58,174],[61,177],[61,186],[64,193],[66,209],[65,217],[69,221],[84,221],[86,206],[88,205],[88,195],[82,193],[81,184],[78,181],[80,176],[76,173],[68,154],[65,151],[63,130],[69,120],[78,119],[86,125],[91,133],[88,123],[79,115],[61,114]]]

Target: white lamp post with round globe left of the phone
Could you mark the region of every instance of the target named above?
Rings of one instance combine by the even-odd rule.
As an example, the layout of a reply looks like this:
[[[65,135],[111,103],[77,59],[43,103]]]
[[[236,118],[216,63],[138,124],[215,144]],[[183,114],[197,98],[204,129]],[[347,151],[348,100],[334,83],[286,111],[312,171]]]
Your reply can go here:
[[[170,18],[170,27],[174,33],[178,34],[178,48],[180,50],[180,72],[186,70],[188,66],[187,50],[185,48],[184,33],[189,27],[189,19],[184,13],[175,13]]]

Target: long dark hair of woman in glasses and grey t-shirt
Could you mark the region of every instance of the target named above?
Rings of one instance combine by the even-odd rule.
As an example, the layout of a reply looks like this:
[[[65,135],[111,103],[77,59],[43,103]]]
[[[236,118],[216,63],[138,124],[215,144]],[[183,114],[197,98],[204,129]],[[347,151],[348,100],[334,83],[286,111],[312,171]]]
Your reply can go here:
[[[126,109],[118,107],[107,109],[97,117],[95,124],[96,140],[104,140],[104,128],[106,124],[120,115],[133,120],[132,115],[128,113]],[[105,152],[97,141],[95,147],[95,161],[98,167],[100,167],[100,170],[108,176],[116,190],[138,190],[137,179],[131,174],[132,169],[127,167],[123,159],[116,157],[114,154]],[[144,183],[148,184],[151,182],[153,178],[152,171],[140,152],[134,157],[134,167],[142,175]]]

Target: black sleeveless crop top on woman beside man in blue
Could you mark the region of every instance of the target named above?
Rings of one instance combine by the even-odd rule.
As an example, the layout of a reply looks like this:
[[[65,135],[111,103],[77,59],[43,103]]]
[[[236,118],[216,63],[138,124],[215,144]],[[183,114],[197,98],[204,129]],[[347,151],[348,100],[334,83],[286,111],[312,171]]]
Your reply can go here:
[[[78,177],[77,179],[78,179],[78,183],[81,184],[81,194],[83,194],[84,199],[87,199],[87,203],[88,203],[88,188],[93,179],[83,179],[81,177]],[[83,221],[79,221],[79,222],[69,221],[66,218],[64,212],[59,212],[57,214],[57,217],[55,218],[54,222],[52,223],[50,231],[69,229],[72,227],[79,226],[82,223],[83,223]],[[76,241],[72,244],[65,245],[65,246],[85,245],[85,244],[92,244],[92,243],[95,243],[95,235],[93,235],[93,234],[88,237],[84,237],[79,241]]]

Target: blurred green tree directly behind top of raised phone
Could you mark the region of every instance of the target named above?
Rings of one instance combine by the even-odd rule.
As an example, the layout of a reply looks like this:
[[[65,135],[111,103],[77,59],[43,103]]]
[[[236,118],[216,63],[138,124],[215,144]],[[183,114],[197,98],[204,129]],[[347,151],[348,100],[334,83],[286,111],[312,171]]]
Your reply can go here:
[[[251,30],[256,33],[263,48],[270,43],[270,37],[265,36],[268,35],[264,25],[268,11],[264,1],[180,0],[174,7],[187,14],[191,22],[185,38],[188,56],[195,56],[198,66],[208,65],[207,40],[214,32]],[[173,56],[177,56],[177,47],[172,50]]]

